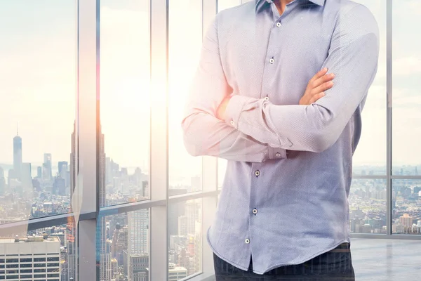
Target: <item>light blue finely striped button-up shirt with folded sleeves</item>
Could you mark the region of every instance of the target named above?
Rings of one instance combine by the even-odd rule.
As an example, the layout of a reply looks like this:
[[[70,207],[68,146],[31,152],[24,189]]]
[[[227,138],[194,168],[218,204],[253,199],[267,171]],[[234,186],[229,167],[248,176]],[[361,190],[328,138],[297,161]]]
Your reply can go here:
[[[272,1],[218,13],[206,32],[182,120],[187,151],[228,159],[208,242],[263,274],[349,242],[348,194],[379,31],[366,6]],[[298,105],[323,67],[334,86]],[[225,120],[215,117],[232,96]]]

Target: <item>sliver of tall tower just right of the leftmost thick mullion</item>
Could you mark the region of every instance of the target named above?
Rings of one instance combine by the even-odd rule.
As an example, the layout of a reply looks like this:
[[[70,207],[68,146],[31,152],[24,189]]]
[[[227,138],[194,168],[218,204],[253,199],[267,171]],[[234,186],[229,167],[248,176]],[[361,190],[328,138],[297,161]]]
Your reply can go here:
[[[105,191],[105,138],[101,132],[98,135],[98,204],[105,206],[106,191]],[[107,226],[105,216],[100,216],[97,226],[97,263],[100,266],[100,280],[111,281],[112,279],[112,252],[107,243]]]

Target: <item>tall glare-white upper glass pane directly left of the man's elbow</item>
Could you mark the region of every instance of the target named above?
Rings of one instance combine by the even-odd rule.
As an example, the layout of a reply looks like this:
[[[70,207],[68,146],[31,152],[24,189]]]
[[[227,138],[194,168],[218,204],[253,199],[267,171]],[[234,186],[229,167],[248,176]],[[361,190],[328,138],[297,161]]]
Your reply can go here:
[[[201,190],[201,157],[185,150],[181,121],[201,51],[201,0],[171,0],[169,7],[169,182],[172,189]]]

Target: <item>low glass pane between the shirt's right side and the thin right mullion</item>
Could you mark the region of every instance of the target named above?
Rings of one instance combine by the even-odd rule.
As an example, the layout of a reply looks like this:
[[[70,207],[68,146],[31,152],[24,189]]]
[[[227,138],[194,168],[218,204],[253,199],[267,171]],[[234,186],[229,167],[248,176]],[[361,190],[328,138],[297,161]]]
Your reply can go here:
[[[351,233],[386,233],[386,180],[352,179],[349,192]]]

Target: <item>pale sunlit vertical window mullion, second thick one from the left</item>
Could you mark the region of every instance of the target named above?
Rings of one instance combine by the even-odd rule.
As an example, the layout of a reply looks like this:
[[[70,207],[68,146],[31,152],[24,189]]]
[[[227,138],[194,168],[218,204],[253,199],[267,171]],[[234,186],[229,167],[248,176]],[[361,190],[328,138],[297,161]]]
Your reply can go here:
[[[151,0],[151,200],[168,202],[168,0]],[[168,204],[150,211],[149,280],[168,280]]]

